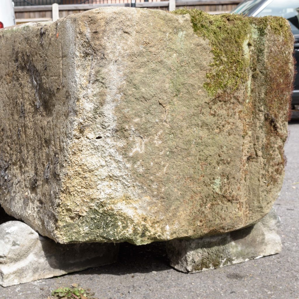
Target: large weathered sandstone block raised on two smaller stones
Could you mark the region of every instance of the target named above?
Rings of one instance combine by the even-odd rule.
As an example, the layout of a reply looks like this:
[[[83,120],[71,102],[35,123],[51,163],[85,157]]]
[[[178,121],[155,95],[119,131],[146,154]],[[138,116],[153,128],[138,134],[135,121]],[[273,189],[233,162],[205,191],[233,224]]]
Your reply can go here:
[[[5,211],[60,243],[198,238],[265,216],[284,174],[293,37],[281,18],[209,18],[109,7],[0,30]],[[213,33],[250,29],[241,60],[201,35],[219,20]]]

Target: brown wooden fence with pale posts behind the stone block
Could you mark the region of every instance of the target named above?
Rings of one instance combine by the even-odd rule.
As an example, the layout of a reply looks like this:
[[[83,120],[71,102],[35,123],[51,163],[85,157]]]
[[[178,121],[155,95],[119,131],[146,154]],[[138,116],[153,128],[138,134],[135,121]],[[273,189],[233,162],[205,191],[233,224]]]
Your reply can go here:
[[[133,0],[134,1],[134,0]],[[72,13],[80,13],[85,10],[104,7],[118,6],[130,7],[131,0],[104,0],[102,4],[53,4],[53,5],[36,5],[36,6],[17,6],[15,7],[16,23],[56,21],[59,18],[66,17]],[[114,2],[114,3],[113,3]],[[115,3],[117,2],[117,3]],[[223,13],[233,10],[241,0],[168,0],[154,1],[137,0],[136,7],[175,10],[178,8],[201,9],[209,13]]]

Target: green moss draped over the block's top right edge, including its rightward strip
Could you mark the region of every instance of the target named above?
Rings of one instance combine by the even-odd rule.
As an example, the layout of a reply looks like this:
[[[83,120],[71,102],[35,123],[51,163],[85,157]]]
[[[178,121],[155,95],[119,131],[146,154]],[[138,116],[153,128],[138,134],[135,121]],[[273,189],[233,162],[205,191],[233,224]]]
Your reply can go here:
[[[254,38],[253,28],[260,36],[270,26],[277,35],[289,36],[289,25],[283,18],[253,18],[237,14],[210,15],[201,10],[180,9],[174,14],[189,14],[194,32],[208,39],[214,55],[204,88],[210,96],[219,91],[232,92],[248,79],[248,46]]]

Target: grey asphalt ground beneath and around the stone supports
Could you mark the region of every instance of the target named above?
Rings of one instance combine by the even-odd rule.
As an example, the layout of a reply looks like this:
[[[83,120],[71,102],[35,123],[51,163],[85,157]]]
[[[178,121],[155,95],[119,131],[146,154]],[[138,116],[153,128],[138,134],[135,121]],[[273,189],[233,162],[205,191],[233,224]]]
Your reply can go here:
[[[299,122],[289,124],[286,176],[274,207],[281,217],[283,251],[238,265],[184,274],[172,269],[164,243],[123,243],[117,263],[3,288],[2,299],[46,299],[77,283],[98,299],[299,299]]]

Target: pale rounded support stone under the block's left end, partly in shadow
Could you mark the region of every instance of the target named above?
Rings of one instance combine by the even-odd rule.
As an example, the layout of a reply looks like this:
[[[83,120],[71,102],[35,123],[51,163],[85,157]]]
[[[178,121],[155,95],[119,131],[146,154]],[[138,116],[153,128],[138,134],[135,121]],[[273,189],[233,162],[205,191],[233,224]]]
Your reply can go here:
[[[118,244],[58,244],[27,224],[0,225],[0,285],[12,286],[116,262]]]

